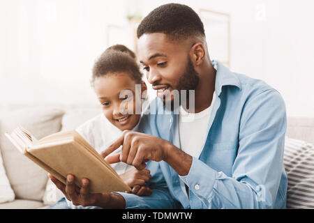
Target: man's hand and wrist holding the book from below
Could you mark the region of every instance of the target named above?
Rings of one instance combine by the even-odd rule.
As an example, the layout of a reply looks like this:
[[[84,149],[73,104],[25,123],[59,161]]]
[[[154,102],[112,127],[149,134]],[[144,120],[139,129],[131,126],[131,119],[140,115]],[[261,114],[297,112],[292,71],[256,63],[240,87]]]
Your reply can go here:
[[[66,178],[66,185],[61,183],[57,178],[49,174],[52,182],[58,187],[59,190],[64,194],[66,199],[72,201],[75,206],[82,205],[86,206],[98,206],[101,208],[125,208],[126,201],[124,197],[116,193],[97,193],[91,194],[89,192],[90,185],[89,180],[86,178],[82,179],[82,187],[80,192],[75,191],[75,177],[72,174],[68,174]]]

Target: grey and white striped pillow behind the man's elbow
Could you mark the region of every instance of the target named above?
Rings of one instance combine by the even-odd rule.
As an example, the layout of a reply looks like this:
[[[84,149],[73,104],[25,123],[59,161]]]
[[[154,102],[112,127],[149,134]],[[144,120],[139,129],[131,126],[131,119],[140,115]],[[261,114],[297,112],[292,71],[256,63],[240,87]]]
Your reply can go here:
[[[287,208],[314,208],[313,144],[286,137],[284,154]]]

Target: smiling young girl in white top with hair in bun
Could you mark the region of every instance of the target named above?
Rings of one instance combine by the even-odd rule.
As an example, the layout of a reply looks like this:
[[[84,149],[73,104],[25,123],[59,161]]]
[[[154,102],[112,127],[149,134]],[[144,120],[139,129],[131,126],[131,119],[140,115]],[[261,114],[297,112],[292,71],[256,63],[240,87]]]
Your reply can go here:
[[[94,64],[91,85],[102,105],[103,113],[80,125],[77,132],[101,153],[122,131],[137,130],[147,86],[142,81],[142,72],[135,54],[124,45],[114,45],[103,52]],[[120,151],[121,148],[116,153]],[[112,164],[112,167],[132,188],[133,194],[151,194],[151,190],[144,185],[151,178],[148,169],[138,171],[124,162]],[[82,208],[74,206],[68,199],[66,202],[70,208]]]

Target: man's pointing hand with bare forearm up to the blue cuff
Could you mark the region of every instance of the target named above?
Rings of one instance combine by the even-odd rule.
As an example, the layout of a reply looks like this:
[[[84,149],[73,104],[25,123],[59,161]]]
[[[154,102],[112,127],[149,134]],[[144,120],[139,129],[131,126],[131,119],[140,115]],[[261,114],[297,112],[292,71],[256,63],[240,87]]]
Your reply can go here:
[[[121,153],[109,155],[121,145]],[[105,149],[102,155],[109,163],[126,162],[139,170],[144,169],[146,167],[145,162],[149,160],[156,162],[164,160],[180,176],[188,174],[193,160],[190,155],[184,153],[165,139],[128,130],[124,131],[117,141]]]

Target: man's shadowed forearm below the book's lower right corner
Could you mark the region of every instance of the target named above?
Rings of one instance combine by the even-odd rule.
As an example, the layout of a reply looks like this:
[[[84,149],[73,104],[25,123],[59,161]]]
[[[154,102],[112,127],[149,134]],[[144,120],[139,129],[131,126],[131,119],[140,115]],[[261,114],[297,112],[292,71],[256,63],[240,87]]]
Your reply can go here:
[[[98,198],[95,206],[105,209],[124,209],[126,208],[126,200],[117,193],[104,193],[103,196]]]

